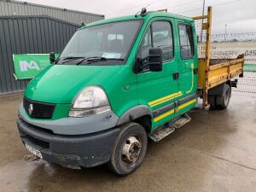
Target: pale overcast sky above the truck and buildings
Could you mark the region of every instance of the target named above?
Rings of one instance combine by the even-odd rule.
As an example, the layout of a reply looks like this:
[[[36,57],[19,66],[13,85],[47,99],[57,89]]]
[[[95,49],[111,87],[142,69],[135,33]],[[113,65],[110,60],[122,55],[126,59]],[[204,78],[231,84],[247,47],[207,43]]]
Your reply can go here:
[[[205,0],[212,6],[212,34],[256,32],[256,0]],[[203,0],[27,0],[29,3],[44,4],[105,15],[112,18],[135,15],[143,7],[147,10],[167,9],[177,15],[202,15]]]

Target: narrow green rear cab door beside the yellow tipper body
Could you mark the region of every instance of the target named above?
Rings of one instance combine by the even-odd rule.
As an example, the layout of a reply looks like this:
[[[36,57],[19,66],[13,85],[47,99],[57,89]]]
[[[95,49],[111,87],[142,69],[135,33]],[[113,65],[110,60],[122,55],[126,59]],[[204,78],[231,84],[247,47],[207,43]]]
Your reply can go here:
[[[178,89],[183,98],[178,100],[178,108],[175,116],[183,114],[189,108],[195,106],[197,90],[197,54],[195,53],[195,32],[193,23],[177,20],[178,34]]]

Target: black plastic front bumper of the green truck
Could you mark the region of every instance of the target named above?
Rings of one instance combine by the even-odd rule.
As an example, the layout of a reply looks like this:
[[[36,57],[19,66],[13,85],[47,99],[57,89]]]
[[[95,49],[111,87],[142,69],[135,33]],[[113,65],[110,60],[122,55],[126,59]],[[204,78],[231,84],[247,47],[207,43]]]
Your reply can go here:
[[[90,135],[64,136],[28,124],[20,118],[17,125],[22,142],[39,150],[44,160],[69,167],[92,167],[108,162],[119,132],[115,128]]]

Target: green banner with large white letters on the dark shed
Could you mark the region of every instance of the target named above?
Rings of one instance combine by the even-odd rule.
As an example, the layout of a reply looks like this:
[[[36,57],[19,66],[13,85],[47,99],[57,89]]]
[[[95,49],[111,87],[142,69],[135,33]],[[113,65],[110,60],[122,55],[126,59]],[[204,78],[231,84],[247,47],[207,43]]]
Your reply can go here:
[[[13,60],[16,79],[32,79],[50,65],[49,54],[13,55]]]

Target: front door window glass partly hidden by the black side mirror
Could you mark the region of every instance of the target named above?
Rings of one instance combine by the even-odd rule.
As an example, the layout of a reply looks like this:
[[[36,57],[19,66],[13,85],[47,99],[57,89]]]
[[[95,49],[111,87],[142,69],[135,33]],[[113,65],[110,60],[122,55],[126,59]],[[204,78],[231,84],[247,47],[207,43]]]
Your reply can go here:
[[[163,61],[173,58],[172,26],[167,21],[154,21],[144,34],[137,57],[145,59],[150,48],[163,49]],[[148,60],[143,60],[142,72],[148,71]]]

